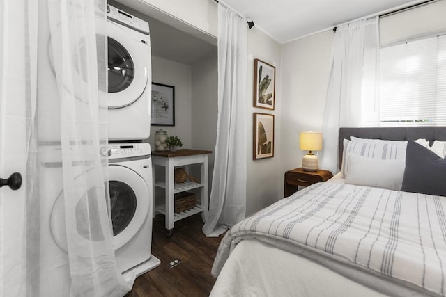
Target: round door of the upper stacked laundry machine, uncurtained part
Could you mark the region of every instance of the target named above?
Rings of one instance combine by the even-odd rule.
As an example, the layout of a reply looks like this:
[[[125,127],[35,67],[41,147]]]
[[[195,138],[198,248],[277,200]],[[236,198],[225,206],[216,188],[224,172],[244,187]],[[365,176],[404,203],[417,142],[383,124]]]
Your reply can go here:
[[[119,109],[135,102],[146,89],[147,59],[141,40],[128,36],[120,26],[107,21],[108,35],[108,95],[109,109]]]

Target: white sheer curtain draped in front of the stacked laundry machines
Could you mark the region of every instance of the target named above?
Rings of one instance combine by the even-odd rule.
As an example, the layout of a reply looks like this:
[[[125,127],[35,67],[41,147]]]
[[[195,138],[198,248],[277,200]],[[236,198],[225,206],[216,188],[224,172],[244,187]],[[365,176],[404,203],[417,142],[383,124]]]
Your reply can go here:
[[[0,3],[0,296],[123,296],[109,218],[105,0]],[[105,150],[104,150],[105,149]],[[9,172],[8,172],[9,171]]]

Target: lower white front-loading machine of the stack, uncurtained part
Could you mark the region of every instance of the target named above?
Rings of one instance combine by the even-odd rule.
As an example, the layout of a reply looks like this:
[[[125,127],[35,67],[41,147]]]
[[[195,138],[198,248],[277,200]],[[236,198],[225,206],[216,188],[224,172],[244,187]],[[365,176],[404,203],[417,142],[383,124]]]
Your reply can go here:
[[[137,275],[155,268],[151,255],[152,160],[148,143],[109,144],[109,189],[118,269]]]

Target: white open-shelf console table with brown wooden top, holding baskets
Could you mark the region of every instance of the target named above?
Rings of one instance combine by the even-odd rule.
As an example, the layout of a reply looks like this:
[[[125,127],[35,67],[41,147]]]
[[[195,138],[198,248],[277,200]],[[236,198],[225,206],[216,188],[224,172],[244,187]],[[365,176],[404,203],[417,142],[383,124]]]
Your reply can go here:
[[[155,211],[164,214],[166,217],[167,236],[172,236],[174,223],[177,220],[182,220],[199,212],[203,212],[203,220],[206,218],[208,214],[208,154],[210,153],[212,152],[208,150],[190,149],[177,150],[176,152],[152,152],[153,170],[156,170],[156,166],[165,168],[164,181],[155,181],[153,191],[155,191],[155,187],[164,188],[165,204],[156,207]],[[175,168],[178,166],[190,166],[192,164],[201,165],[199,182],[175,183]],[[201,190],[201,203],[191,209],[175,213],[174,195],[194,188],[200,188]],[[155,198],[155,192],[153,193],[153,198]]]

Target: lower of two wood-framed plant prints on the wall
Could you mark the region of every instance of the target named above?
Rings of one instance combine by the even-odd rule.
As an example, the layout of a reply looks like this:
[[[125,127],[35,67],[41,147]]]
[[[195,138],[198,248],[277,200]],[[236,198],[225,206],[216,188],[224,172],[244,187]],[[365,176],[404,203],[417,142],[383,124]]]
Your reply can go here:
[[[253,126],[253,159],[274,156],[274,115],[254,113]]]

